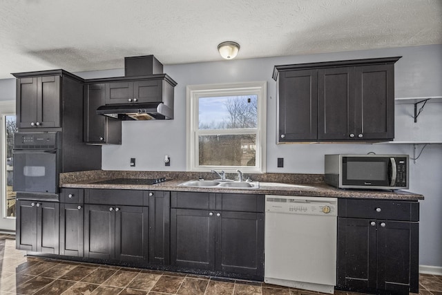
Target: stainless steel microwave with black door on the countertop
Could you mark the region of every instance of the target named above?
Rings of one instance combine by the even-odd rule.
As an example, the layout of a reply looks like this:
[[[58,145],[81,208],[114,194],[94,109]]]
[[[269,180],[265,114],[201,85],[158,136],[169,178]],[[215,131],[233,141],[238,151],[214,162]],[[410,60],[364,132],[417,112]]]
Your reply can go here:
[[[408,189],[408,155],[325,155],[325,182],[340,189]]]

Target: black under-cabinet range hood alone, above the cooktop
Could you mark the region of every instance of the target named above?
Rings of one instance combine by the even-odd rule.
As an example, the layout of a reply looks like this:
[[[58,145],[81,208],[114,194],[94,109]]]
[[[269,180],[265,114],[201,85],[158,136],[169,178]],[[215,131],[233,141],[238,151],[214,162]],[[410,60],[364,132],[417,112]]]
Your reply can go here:
[[[145,104],[107,104],[97,108],[98,115],[118,120],[164,120],[173,119],[173,110],[163,102]]]

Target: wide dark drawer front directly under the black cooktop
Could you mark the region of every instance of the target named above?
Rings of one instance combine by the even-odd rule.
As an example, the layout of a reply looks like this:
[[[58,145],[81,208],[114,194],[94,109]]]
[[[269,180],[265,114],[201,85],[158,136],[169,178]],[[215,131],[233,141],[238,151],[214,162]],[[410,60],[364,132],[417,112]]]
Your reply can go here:
[[[84,202],[86,204],[143,206],[144,193],[148,192],[126,189],[86,189]]]

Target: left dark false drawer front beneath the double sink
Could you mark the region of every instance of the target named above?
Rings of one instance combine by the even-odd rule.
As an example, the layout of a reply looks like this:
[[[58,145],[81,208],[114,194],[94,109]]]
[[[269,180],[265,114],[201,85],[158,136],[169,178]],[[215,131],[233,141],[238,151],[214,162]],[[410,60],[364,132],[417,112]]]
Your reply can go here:
[[[215,209],[214,193],[171,192],[171,207],[182,209]]]

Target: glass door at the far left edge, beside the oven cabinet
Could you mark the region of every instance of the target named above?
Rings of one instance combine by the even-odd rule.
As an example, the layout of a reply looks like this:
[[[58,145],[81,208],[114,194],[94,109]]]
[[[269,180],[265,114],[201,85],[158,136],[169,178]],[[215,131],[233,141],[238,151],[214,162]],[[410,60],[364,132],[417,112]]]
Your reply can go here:
[[[15,195],[12,191],[14,133],[17,132],[15,114],[1,114],[1,219],[0,231],[15,231]]]

